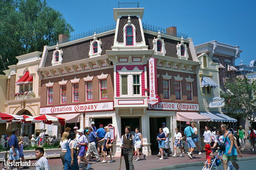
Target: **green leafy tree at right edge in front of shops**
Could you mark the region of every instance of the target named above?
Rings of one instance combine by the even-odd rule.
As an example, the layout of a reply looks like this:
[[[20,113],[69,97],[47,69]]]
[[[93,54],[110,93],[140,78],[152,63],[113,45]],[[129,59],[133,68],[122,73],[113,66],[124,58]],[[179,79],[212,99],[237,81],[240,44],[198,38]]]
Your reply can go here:
[[[250,82],[248,79],[241,78],[229,79],[224,87],[226,91],[221,92],[221,97],[225,99],[223,107],[225,114],[243,117],[252,125],[256,120],[256,81]]]

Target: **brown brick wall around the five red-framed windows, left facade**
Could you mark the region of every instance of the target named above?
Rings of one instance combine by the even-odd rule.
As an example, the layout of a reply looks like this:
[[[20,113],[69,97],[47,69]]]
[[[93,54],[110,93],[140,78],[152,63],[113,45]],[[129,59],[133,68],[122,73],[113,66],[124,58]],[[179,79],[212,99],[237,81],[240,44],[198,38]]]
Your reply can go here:
[[[102,72],[104,74],[109,74],[107,77],[107,99],[100,99],[100,80],[98,79],[98,75],[101,75]],[[41,80],[40,89],[40,107],[44,106],[56,106],[56,105],[67,105],[67,104],[78,104],[78,103],[91,103],[91,102],[102,102],[102,101],[113,101],[114,100],[114,69],[109,68],[105,70],[95,70],[87,73],[73,74],[62,77],[54,77],[52,79],[44,79]],[[86,101],[86,82],[84,81],[84,77],[87,75],[94,76],[93,78],[93,100]],[[80,78],[79,81],[79,102],[73,101],[73,85],[70,80],[76,78]],[[67,82],[67,103],[60,103],[60,85],[59,81],[68,80]],[[47,87],[46,83],[50,80],[53,84],[53,103],[47,105]]]

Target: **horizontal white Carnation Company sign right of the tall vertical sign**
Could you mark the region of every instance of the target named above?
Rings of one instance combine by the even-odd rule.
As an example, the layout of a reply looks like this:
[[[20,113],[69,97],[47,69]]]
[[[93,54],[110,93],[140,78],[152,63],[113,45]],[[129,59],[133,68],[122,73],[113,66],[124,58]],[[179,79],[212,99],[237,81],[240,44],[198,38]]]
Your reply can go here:
[[[148,110],[199,111],[198,103],[161,102],[148,104]]]

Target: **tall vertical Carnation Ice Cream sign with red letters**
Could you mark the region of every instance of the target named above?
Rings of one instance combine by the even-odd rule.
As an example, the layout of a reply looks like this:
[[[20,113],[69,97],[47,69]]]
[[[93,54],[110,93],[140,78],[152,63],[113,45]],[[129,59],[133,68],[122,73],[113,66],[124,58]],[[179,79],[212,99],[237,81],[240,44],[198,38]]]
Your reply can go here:
[[[147,103],[154,105],[161,102],[160,96],[157,92],[157,69],[156,69],[156,59],[150,58],[148,60],[149,66],[149,96]]]

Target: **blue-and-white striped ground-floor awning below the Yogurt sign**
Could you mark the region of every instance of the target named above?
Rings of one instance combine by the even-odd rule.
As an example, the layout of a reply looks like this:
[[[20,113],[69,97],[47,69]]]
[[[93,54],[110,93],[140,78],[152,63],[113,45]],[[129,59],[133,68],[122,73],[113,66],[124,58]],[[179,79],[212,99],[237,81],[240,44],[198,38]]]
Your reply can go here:
[[[237,120],[221,112],[199,112],[199,114],[212,118],[214,122],[236,122]]]

